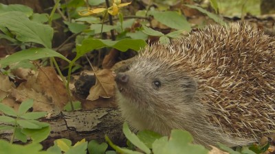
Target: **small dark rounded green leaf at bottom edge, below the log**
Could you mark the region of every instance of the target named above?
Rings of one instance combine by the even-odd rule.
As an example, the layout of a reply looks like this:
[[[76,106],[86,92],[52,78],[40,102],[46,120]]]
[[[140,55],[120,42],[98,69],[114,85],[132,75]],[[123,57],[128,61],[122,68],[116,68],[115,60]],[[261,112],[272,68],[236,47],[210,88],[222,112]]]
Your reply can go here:
[[[91,140],[88,144],[89,154],[104,154],[107,148],[107,143],[99,144],[96,140]]]

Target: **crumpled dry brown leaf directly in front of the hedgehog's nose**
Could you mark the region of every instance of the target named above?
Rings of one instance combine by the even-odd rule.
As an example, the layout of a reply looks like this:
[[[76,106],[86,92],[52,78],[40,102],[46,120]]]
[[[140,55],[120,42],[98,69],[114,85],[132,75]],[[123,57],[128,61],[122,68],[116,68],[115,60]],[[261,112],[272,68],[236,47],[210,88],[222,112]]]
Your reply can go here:
[[[98,70],[95,75],[96,85],[91,87],[87,99],[94,101],[99,97],[113,97],[115,90],[115,79],[112,71],[107,69]]]

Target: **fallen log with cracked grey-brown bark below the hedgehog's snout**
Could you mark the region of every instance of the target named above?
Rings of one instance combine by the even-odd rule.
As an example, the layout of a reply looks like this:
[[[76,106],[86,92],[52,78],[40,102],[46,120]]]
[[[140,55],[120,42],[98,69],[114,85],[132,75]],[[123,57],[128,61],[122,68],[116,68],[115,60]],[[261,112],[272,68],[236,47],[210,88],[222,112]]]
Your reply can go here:
[[[90,111],[61,112],[57,116],[43,119],[51,126],[50,136],[42,142],[44,148],[52,146],[54,140],[67,138],[73,143],[85,138],[104,142],[107,135],[116,144],[121,144],[122,119],[118,109],[97,108]],[[0,131],[0,138],[10,140],[12,131]]]

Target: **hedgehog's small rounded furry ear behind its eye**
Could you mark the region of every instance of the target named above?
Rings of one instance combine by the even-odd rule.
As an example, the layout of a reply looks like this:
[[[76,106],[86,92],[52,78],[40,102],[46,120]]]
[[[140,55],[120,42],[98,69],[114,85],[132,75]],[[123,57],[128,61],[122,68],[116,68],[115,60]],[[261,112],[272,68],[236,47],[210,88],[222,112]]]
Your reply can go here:
[[[184,88],[184,94],[186,94],[186,97],[192,99],[197,91],[197,81],[191,77],[184,77],[181,87]]]

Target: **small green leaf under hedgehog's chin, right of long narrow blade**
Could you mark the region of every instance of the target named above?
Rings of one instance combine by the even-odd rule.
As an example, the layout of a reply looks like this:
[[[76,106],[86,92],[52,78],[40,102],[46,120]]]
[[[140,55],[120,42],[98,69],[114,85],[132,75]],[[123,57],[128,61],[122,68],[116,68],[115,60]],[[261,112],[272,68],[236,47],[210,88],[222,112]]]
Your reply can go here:
[[[159,133],[155,133],[154,131],[139,131],[137,133],[137,137],[140,138],[142,142],[149,148],[152,149],[152,144],[155,140],[162,138]]]

